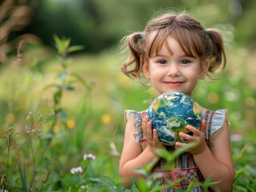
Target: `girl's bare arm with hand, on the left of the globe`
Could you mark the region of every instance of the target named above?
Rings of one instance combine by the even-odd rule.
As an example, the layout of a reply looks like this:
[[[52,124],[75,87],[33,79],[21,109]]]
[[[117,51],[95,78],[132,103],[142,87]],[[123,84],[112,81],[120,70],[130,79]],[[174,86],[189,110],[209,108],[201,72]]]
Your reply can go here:
[[[146,134],[148,147],[142,150],[133,138],[133,134],[136,133],[134,127],[134,120],[132,118],[127,119],[125,133],[124,133],[124,146],[120,158],[120,177],[126,188],[130,188],[132,179],[143,178],[141,174],[136,173],[136,168],[141,168],[154,159],[159,158],[154,152],[154,147],[161,146],[157,137],[156,131],[152,131],[151,124],[148,122],[148,117],[144,119],[143,123],[144,134]],[[145,133],[146,132],[146,133]]]

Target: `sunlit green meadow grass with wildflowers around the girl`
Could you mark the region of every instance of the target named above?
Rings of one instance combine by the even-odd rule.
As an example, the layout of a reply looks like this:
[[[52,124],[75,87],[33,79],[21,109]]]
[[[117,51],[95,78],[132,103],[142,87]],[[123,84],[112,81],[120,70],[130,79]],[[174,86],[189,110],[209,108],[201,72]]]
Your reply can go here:
[[[154,93],[120,73],[122,58],[116,50],[71,55],[66,70],[68,75],[75,73],[82,79],[75,81],[71,76],[60,78],[63,70],[56,53],[42,46],[32,48],[24,47],[22,63],[10,58],[0,71],[0,188],[130,191],[124,189],[118,174],[124,110],[146,109]],[[206,108],[229,109],[236,168],[234,191],[254,191],[256,95],[249,78],[243,75],[247,73],[242,65],[247,54],[239,49],[230,54],[233,57],[223,78],[200,83],[194,97]],[[63,79],[72,89],[64,90],[57,103],[56,85],[63,85]],[[61,109],[58,113],[57,104]],[[95,155],[95,159],[84,159],[84,154]],[[72,168],[77,173],[72,174]],[[141,187],[148,189],[147,183]],[[138,189],[134,186],[132,191]]]

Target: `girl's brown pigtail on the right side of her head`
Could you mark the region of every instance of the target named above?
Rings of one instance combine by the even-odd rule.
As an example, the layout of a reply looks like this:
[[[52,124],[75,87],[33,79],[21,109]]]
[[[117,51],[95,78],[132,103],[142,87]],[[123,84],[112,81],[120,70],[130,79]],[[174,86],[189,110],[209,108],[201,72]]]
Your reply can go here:
[[[209,72],[223,70],[226,67],[226,52],[221,34],[215,29],[205,30],[205,34],[209,39]]]

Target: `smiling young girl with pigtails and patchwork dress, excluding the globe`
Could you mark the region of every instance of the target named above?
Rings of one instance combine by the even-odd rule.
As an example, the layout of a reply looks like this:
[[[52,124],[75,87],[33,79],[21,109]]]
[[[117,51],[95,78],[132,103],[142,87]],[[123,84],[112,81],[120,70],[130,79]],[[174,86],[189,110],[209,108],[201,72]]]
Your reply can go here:
[[[148,22],[143,32],[124,38],[130,55],[122,66],[127,76],[140,79],[141,74],[150,80],[158,94],[171,91],[191,96],[198,79],[204,79],[210,72],[223,70],[226,54],[221,34],[217,30],[205,30],[200,22],[188,14],[163,14]],[[229,191],[234,182],[234,165],[230,150],[227,110],[207,110],[201,106],[203,120],[201,129],[186,126],[193,135],[180,133],[188,142],[196,142],[175,160],[173,170],[164,170],[165,159],[158,157],[157,148],[175,150],[187,143],[176,142],[173,147],[161,144],[156,130],[152,130],[147,110],[125,111],[126,128],[124,148],[120,158],[120,177],[126,188],[131,182],[143,178],[136,173],[153,160],[153,173],[159,175],[162,184],[167,180],[183,180],[177,188],[186,190],[196,179],[204,182],[210,178],[217,184],[209,191]],[[165,189],[164,191],[174,191]],[[193,191],[203,191],[193,186]]]

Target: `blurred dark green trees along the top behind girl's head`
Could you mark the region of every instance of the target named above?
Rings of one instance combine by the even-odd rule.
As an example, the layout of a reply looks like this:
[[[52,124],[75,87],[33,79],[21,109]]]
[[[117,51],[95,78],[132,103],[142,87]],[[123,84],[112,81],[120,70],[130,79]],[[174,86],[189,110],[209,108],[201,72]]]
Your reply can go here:
[[[186,10],[212,26],[231,23],[235,41],[246,46],[256,41],[254,0],[35,0],[30,26],[23,33],[36,34],[53,46],[52,34],[69,37],[87,52],[104,50],[131,31],[143,30],[158,10]]]

